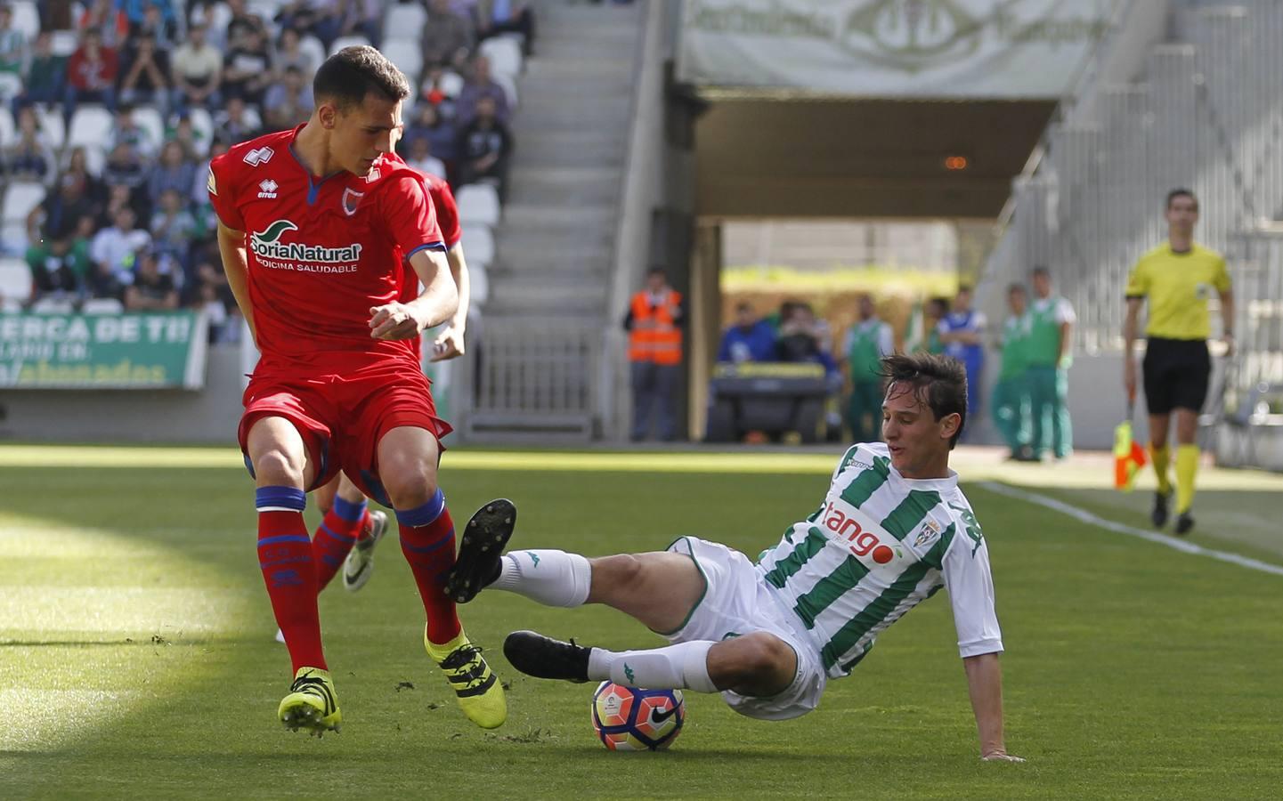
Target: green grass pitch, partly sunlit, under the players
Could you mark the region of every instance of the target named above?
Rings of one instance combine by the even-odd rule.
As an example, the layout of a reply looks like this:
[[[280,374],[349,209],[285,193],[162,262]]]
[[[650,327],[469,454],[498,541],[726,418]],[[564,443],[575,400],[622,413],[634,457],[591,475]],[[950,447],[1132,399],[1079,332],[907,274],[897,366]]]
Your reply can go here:
[[[679,534],[756,555],[821,500],[837,454],[446,455],[455,522],[493,496],[514,546],[589,555]],[[999,496],[1006,481],[1124,523],[1147,496],[1107,467],[958,460],[992,554],[1008,748],[983,764],[948,602],[879,640],[820,709],[740,718],[688,693],[666,754],[593,738],[591,688],[527,679],[498,651],[535,628],[659,645],[612,610],[500,592],[462,607],[511,683],[497,732],[468,724],[421,646],[395,538],[359,593],[321,599],[343,731],[284,731],[284,646],[254,559],[251,483],[214,449],[0,447],[0,798],[1277,798],[1283,577],[1182,554]],[[1283,478],[1209,472],[1194,541],[1283,564]],[[309,523],[317,520],[309,510]]]

